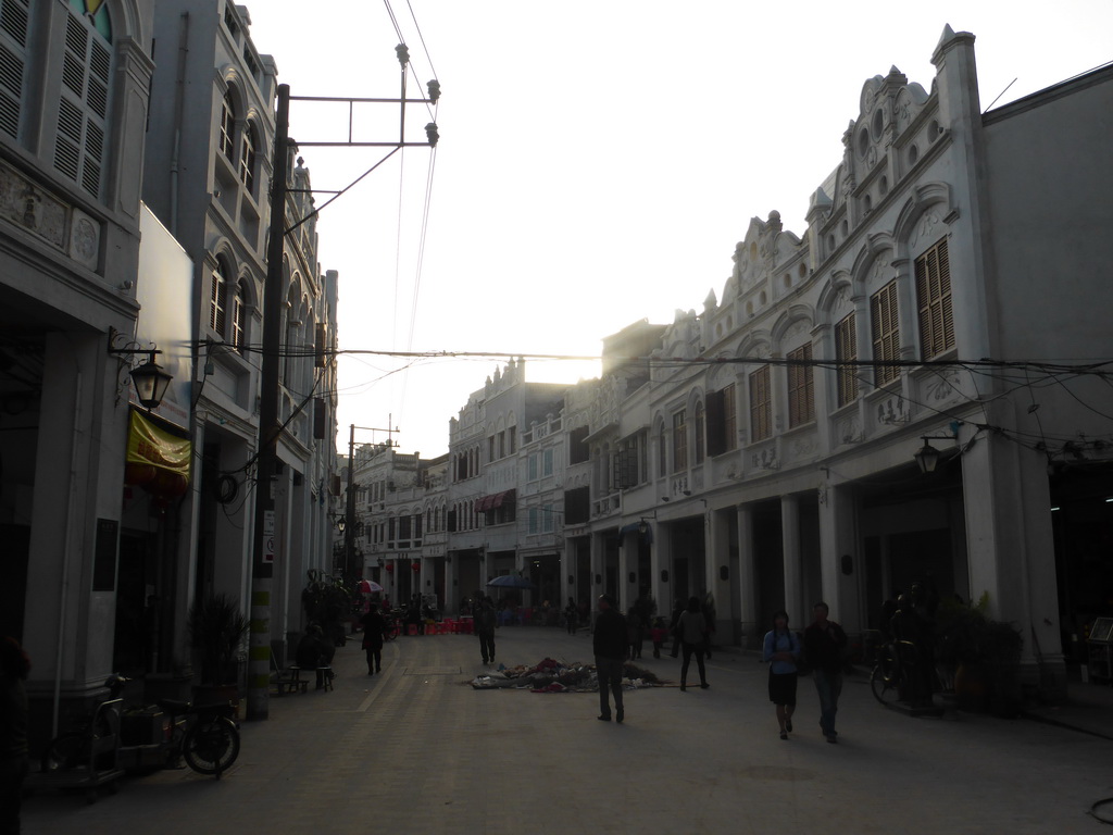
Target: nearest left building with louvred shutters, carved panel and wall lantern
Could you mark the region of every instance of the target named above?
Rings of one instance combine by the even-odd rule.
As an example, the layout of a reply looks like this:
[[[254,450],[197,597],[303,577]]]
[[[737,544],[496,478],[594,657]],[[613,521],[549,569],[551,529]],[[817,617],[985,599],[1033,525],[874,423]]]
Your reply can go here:
[[[109,348],[156,347],[137,343],[154,12],[0,12],[0,631],[33,661],[37,745],[112,662],[132,356]],[[188,367],[178,338],[162,365]]]

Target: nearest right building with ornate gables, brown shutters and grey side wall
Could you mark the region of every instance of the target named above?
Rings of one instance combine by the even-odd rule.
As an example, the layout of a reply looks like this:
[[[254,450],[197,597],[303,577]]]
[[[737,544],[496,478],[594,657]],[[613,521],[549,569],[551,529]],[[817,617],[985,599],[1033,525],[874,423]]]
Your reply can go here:
[[[639,593],[629,540],[649,517],[654,597],[710,593],[720,640],[754,646],[772,611],[805,622],[820,599],[860,635],[923,581],[985,595],[1021,629],[1030,680],[1062,671],[1087,615],[1056,584],[1052,491],[1104,500],[1113,403],[1054,361],[1113,348],[1092,269],[1110,254],[1111,166],[1087,116],[1113,75],[983,115],[973,42],[944,31],[929,91],[896,69],[867,81],[802,237],[755,218],[721,301],[678,312],[650,385],[589,424],[601,460],[648,428],[652,487],[594,494],[597,584],[617,569]],[[1051,276],[1080,292],[1048,294]],[[930,475],[913,459],[925,443],[942,453]]]

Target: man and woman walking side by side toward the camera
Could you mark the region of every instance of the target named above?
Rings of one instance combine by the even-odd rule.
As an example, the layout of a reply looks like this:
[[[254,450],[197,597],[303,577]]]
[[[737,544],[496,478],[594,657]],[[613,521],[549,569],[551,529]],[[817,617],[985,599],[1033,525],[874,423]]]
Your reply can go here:
[[[844,650],[846,632],[828,616],[827,603],[811,608],[811,623],[804,630],[804,640],[788,628],[788,612],[780,610],[772,616],[772,629],[765,637],[761,658],[769,662],[769,701],[777,706],[777,725],[780,738],[792,733],[792,714],[796,711],[796,685],[801,667],[811,669],[819,695],[819,728],[828,743],[838,741],[835,715],[838,697],[843,691]]]

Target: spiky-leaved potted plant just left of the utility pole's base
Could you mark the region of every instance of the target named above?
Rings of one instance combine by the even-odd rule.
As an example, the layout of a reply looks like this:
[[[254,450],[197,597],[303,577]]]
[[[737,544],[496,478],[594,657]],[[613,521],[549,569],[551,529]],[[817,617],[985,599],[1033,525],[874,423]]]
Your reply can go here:
[[[247,626],[239,605],[227,595],[208,595],[194,600],[187,629],[200,667],[201,687],[195,694],[197,700],[238,699],[239,646]],[[207,690],[204,696],[203,690]]]

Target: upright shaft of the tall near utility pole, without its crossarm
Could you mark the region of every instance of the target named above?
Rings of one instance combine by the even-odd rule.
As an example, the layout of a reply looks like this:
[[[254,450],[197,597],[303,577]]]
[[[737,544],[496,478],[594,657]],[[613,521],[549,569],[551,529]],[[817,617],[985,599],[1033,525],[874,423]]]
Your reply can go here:
[[[278,463],[278,370],[282,350],[282,262],[286,240],[286,178],[289,168],[289,85],[278,85],[270,239],[263,288],[263,370],[259,381],[259,443],[256,451],[255,540],[252,554],[252,617],[247,669],[247,718],[266,719],[270,698],[270,587],[274,577],[275,474]]]

